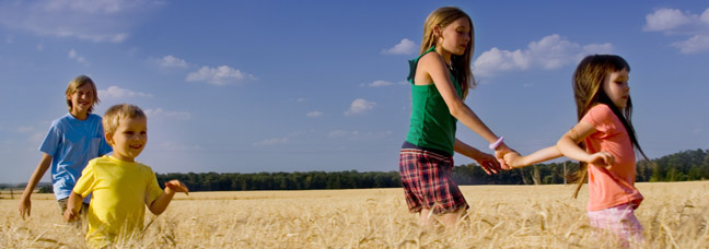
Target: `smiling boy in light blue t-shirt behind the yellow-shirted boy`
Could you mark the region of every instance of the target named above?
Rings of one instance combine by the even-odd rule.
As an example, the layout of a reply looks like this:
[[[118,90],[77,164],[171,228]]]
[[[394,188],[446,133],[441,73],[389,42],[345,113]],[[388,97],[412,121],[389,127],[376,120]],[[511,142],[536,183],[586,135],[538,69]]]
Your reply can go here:
[[[32,213],[32,192],[49,166],[54,192],[63,213],[67,199],[86,163],[112,152],[104,138],[101,117],[91,114],[100,102],[94,82],[89,76],[79,75],[69,82],[66,96],[69,114],[51,122],[39,146],[42,159],[20,199],[18,209],[23,220],[25,214],[30,216]],[[84,199],[84,210],[90,200],[91,197]]]

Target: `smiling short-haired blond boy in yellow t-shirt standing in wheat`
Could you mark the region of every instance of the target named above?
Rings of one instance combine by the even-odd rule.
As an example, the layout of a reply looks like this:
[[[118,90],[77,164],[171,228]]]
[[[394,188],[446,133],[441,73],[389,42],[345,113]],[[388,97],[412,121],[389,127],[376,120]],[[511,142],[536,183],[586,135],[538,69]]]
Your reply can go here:
[[[86,215],[86,241],[92,247],[105,247],[140,234],[144,205],[160,215],[175,192],[188,193],[178,180],[165,182],[163,191],[152,169],[135,161],[148,142],[147,124],[146,114],[133,105],[115,105],[104,115],[104,133],[114,153],[89,162],[63,214],[66,221],[77,220],[81,200],[93,193]]]

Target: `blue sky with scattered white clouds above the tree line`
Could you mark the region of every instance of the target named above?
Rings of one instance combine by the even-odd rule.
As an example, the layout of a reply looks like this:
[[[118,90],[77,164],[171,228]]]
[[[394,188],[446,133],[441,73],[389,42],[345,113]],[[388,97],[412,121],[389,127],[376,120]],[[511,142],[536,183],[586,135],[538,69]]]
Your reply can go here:
[[[18,0],[0,1],[0,182],[28,179],[79,74],[96,82],[96,114],[148,112],[138,161],[158,173],[397,170],[407,60],[442,5],[475,25],[466,103],[521,153],[574,124],[570,79],[589,54],[630,63],[651,158],[709,149],[704,1]]]

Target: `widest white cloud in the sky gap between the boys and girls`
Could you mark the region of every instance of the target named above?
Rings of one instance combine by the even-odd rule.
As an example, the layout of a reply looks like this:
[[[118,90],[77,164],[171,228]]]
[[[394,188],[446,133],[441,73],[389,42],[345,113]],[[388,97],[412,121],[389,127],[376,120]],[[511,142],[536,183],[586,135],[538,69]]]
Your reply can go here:
[[[188,82],[201,81],[212,85],[234,84],[246,80],[257,80],[257,78],[228,66],[219,68],[201,67],[198,71],[187,74],[185,79]]]

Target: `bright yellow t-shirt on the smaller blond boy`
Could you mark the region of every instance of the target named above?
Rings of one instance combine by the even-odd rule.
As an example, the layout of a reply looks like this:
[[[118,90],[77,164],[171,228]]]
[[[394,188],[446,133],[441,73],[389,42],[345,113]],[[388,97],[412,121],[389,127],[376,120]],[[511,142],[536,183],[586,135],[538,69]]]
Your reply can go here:
[[[82,197],[93,193],[86,215],[86,241],[92,247],[104,247],[117,238],[141,233],[146,204],[163,190],[149,166],[102,156],[89,162],[73,192]]]

